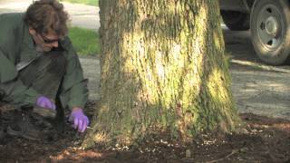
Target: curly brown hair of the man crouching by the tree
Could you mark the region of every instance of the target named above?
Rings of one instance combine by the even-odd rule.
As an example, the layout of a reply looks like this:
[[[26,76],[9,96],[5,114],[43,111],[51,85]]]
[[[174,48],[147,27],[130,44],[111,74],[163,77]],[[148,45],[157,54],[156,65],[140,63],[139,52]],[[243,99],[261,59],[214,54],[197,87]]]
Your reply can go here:
[[[67,34],[68,14],[63,10],[63,5],[57,0],[34,1],[24,14],[24,22],[39,34]]]

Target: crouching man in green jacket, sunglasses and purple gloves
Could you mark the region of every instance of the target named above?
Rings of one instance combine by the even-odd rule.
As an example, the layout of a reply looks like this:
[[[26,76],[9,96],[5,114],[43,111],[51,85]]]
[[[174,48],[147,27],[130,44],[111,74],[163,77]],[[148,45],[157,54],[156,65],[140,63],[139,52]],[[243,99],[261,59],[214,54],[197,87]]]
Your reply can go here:
[[[37,139],[32,110],[70,109],[74,129],[89,125],[86,80],[67,36],[68,14],[57,0],[34,1],[24,14],[0,14],[0,100],[17,106],[7,132]],[[62,120],[62,119],[60,119]]]

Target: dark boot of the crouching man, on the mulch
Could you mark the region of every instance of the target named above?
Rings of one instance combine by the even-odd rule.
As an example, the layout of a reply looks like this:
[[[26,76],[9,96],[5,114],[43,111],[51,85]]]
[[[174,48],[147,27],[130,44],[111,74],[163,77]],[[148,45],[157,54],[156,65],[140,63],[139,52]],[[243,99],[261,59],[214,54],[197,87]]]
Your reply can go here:
[[[14,121],[8,126],[7,134],[10,136],[17,136],[24,139],[38,140],[41,138],[41,132],[34,129],[31,124],[30,114],[33,108],[22,108],[14,111]]]

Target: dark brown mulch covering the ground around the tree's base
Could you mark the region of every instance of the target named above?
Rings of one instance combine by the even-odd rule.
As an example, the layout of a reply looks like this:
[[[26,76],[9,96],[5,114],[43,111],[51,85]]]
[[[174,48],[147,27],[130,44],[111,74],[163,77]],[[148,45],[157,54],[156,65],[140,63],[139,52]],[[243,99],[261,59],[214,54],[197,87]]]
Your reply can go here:
[[[93,110],[94,101],[87,108]],[[11,110],[1,107],[2,123]],[[90,112],[92,113],[92,111]],[[138,148],[80,149],[83,135],[69,127],[41,141],[5,135],[0,162],[290,162],[290,121],[241,114],[245,127],[227,136],[202,135],[187,146],[166,139],[146,139]],[[165,136],[166,138],[166,136]]]

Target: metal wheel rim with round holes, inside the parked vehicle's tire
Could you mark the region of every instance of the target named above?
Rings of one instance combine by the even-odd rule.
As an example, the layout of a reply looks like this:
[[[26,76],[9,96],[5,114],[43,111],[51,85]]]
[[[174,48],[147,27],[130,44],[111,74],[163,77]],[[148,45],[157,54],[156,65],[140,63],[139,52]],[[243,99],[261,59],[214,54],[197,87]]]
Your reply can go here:
[[[275,5],[265,5],[257,14],[256,25],[259,42],[267,51],[275,51],[285,35],[280,10]]]

